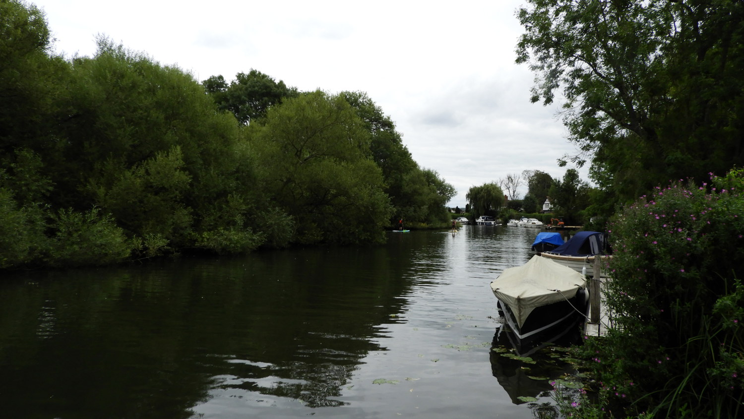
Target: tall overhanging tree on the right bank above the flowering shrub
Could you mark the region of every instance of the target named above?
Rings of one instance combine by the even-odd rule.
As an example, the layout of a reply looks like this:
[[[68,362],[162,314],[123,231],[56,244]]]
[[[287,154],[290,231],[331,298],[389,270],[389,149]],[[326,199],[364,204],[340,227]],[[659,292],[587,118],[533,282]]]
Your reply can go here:
[[[533,102],[565,97],[569,139],[620,202],[744,164],[744,4],[528,0],[517,63]],[[700,182],[700,181],[699,181]]]

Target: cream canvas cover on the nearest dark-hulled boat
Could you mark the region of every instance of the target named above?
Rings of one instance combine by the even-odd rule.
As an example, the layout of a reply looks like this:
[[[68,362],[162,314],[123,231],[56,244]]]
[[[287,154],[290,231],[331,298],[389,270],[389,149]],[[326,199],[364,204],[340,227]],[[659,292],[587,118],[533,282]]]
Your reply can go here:
[[[565,301],[584,287],[579,272],[538,255],[522,266],[504,269],[491,282],[493,295],[511,308],[519,327],[536,307]]]

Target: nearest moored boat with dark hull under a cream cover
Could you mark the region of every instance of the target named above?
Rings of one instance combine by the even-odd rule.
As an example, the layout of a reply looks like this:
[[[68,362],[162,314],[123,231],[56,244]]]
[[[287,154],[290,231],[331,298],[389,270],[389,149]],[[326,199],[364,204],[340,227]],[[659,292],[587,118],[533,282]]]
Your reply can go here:
[[[542,333],[586,312],[586,280],[574,269],[533,256],[491,282],[507,324],[519,339]]]

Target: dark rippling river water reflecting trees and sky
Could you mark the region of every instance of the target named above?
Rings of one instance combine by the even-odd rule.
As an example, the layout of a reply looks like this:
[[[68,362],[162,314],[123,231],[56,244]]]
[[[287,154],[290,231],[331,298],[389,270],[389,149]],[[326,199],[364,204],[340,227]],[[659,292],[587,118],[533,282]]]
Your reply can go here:
[[[570,365],[499,356],[489,287],[538,232],[4,273],[0,416],[555,417]]]

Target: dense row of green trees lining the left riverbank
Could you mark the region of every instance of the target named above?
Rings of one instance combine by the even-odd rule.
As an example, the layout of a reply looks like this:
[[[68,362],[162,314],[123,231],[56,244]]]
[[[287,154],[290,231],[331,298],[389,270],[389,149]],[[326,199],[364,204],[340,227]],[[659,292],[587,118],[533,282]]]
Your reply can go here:
[[[0,269],[183,251],[380,243],[446,225],[455,194],[363,92],[251,69],[199,83],[103,36],[52,52],[45,16],[0,1]]]

